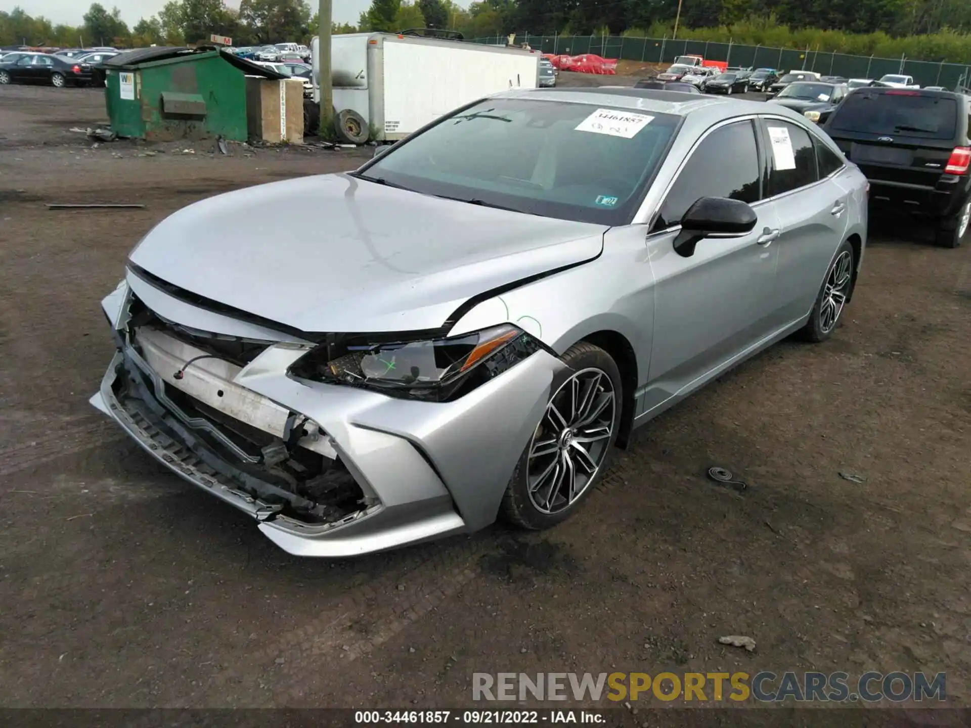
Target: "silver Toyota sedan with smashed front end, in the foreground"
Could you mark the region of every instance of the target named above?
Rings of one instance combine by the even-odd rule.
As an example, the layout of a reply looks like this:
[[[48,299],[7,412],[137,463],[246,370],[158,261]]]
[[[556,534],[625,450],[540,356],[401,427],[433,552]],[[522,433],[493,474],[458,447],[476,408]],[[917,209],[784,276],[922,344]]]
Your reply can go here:
[[[91,402],[291,553],[550,527],[635,427],[833,333],[866,202],[784,108],[511,90],[161,221],[103,302]]]

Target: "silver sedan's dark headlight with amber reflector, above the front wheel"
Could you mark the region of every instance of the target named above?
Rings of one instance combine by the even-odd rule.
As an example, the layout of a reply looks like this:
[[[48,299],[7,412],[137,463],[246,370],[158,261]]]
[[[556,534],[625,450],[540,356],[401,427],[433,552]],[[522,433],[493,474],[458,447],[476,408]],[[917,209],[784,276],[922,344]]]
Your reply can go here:
[[[452,338],[321,345],[297,359],[287,374],[391,397],[448,402],[540,348],[536,339],[506,323]]]

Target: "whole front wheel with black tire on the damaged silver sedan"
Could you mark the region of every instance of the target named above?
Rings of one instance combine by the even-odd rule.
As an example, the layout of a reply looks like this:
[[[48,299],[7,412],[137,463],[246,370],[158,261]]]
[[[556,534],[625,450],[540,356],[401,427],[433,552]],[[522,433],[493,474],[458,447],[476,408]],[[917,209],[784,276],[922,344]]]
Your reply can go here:
[[[503,515],[520,528],[550,528],[575,513],[617,442],[623,391],[614,359],[586,342],[561,359],[567,366],[502,499]]]

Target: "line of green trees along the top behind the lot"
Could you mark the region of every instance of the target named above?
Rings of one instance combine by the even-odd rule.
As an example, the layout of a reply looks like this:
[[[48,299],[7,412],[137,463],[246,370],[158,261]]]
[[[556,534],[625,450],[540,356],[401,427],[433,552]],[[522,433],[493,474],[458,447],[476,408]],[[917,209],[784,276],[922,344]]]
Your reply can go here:
[[[356,24],[333,32],[434,27],[466,38],[627,35],[671,38],[678,0],[373,0]],[[305,0],[171,0],[128,28],[117,8],[95,3],[80,26],[52,25],[20,8],[0,11],[0,45],[182,45],[211,33],[237,46],[309,42],[317,14]],[[971,63],[969,0],[683,0],[678,38],[915,60]]]

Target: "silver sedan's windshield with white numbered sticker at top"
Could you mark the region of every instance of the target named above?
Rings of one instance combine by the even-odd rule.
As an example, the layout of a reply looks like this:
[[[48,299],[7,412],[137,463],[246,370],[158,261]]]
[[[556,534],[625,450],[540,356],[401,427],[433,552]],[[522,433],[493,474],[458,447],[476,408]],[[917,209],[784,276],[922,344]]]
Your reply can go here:
[[[626,224],[680,120],[590,104],[486,99],[355,175],[531,215]]]

